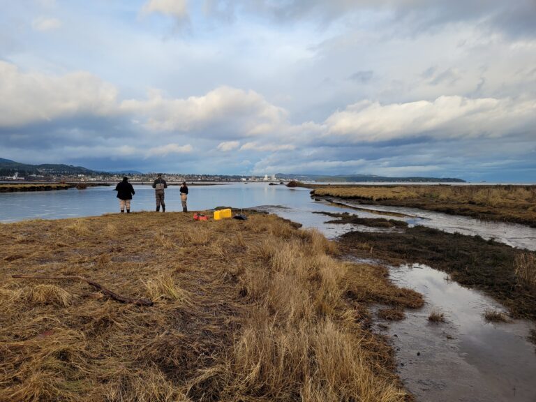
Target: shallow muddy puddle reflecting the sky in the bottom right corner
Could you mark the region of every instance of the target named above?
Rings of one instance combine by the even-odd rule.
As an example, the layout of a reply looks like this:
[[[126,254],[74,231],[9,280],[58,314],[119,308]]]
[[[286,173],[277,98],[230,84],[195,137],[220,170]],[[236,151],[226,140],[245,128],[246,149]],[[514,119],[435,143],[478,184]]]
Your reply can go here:
[[[405,320],[378,327],[392,338],[399,375],[418,401],[536,401],[535,345],[526,338],[533,324],[485,322],[484,312],[503,311],[500,304],[431,267],[392,267],[390,274],[426,300],[406,310]],[[446,322],[429,322],[432,309]]]

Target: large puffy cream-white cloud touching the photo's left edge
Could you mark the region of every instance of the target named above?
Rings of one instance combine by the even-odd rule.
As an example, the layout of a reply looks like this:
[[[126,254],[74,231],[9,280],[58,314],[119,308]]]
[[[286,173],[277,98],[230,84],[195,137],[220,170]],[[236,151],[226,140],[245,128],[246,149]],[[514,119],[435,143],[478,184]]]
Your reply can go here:
[[[0,61],[0,127],[117,112],[117,89],[86,72],[23,73]]]

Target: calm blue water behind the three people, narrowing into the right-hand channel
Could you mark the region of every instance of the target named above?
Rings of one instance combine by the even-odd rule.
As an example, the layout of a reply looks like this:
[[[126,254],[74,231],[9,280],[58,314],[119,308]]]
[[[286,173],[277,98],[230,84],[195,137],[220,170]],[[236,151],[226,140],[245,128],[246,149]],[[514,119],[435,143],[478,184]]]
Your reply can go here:
[[[135,186],[132,211],[154,211],[154,189],[151,186]],[[86,190],[38,191],[27,193],[0,193],[0,222],[8,223],[25,219],[57,219],[78,216],[96,216],[119,211],[114,187],[90,187]],[[182,211],[179,186],[165,191],[167,211]],[[510,246],[536,250],[536,228],[507,223],[489,223],[463,216],[452,216],[419,209],[400,207],[367,207],[356,211],[351,205],[335,205],[315,201],[308,188],[269,186],[267,183],[236,183],[217,186],[191,186],[188,209],[209,210],[215,207],[260,207],[283,218],[299,222],[308,228],[318,228],[333,238],[348,230],[376,230],[364,226],[325,223],[332,218],[313,212],[345,212],[359,214],[363,218],[395,218],[390,212],[405,214],[399,217],[410,225],[425,225],[446,232],[478,234],[484,239],[494,238]]]

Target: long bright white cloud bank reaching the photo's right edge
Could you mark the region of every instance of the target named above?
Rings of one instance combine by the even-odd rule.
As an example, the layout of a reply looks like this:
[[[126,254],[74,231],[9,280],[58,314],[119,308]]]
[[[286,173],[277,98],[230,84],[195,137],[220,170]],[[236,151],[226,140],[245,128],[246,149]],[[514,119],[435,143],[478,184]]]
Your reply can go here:
[[[355,103],[326,121],[325,137],[352,142],[408,137],[501,137],[536,124],[536,101],[440,96],[435,101]]]

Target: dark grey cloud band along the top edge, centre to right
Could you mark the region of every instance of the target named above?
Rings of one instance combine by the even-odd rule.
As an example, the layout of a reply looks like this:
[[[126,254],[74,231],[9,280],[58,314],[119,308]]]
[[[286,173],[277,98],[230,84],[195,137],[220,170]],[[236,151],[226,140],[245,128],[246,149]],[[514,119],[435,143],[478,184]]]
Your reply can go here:
[[[299,20],[330,23],[348,13],[392,12],[397,31],[416,34],[445,24],[469,22],[501,31],[514,38],[536,36],[534,0],[206,0],[212,15],[236,20],[239,13],[253,13],[273,22],[294,24]]]

